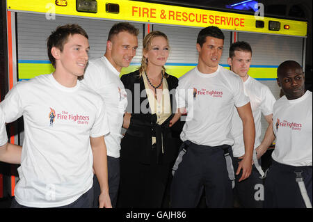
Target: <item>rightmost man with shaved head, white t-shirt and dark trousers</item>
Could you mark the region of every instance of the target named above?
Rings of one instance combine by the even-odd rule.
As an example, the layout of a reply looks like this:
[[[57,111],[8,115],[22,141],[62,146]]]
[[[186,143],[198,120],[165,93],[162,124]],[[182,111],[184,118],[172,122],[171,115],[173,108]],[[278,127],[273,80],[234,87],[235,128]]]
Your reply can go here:
[[[281,63],[277,77],[284,96],[273,107],[276,142],[264,207],[312,208],[312,92],[296,61]]]

